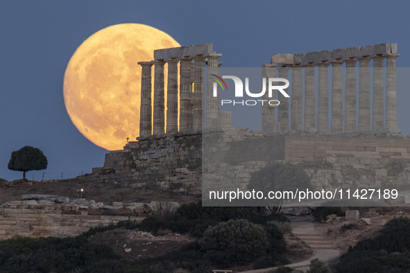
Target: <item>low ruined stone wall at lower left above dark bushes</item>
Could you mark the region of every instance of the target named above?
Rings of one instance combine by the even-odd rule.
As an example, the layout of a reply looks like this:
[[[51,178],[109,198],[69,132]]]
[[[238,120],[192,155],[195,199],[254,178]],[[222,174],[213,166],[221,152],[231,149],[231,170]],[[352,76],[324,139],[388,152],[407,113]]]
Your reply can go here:
[[[141,221],[148,215],[176,211],[176,202],[112,205],[55,195],[23,195],[23,200],[0,205],[0,240],[16,236],[77,236],[92,227]]]

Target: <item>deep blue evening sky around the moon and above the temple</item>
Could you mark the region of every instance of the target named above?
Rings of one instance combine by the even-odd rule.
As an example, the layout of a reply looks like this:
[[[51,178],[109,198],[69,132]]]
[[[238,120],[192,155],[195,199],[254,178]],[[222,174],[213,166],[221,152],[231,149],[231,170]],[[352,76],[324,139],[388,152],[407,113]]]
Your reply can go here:
[[[275,53],[398,43],[410,61],[409,1],[1,1],[0,177],[13,150],[31,145],[49,159],[45,178],[103,166],[106,150],[85,139],[65,110],[62,80],[87,37],[114,24],[158,28],[181,45],[213,43],[226,67],[260,67]],[[399,127],[409,134],[399,90]],[[42,171],[28,173],[41,179]]]

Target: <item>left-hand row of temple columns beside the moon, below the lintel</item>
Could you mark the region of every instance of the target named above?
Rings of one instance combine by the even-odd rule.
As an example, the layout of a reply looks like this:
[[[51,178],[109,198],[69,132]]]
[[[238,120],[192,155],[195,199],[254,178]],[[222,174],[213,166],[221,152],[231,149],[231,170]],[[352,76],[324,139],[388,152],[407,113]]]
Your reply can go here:
[[[205,91],[204,63],[207,62],[207,127],[225,127],[228,123],[226,113],[220,118],[219,92],[212,96],[213,85],[210,75],[219,75],[218,62],[221,54],[196,55],[193,58],[170,58],[153,62],[139,62],[142,67],[141,80],[141,112],[139,135],[164,134],[178,132],[178,62],[180,62],[180,124],[179,130],[200,130],[205,124]],[[167,103],[165,123],[164,98],[164,64],[168,64]],[[194,64],[194,67],[192,67]],[[151,69],[154,65],[154,103],[152,105]],[[153,111],[152,111],[153,110]],[[153,113],[153,116],[152,114]],[[221,122],[220,123],[220,119]],[[223,121],[222,121],[223,120]],[[165,127],[166,124],[166,127]]]

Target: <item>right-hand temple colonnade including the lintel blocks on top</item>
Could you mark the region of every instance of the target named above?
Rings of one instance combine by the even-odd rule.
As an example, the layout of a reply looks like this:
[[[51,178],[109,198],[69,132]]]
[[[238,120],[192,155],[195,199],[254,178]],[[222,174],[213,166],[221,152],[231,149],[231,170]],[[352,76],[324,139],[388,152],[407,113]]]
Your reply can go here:
[[[280,131],[305,130],[323,134],[339,134],[341,132],[366,132],[371,130],[398,130],[397,119],[397,84],[396,58],[397,44],[375,44],[373,46],[350,47],[315,51],[302,54],[276,54],[271,64],[265,64],[264,73],[268,77],[287,78],[288,70],[292,73],[292,99],[289,115],[287,100],[279,106],[277,122]],[[386,113],[384,113],[384,59],[386,59]],[[369,62],[373,60],[373,77],[370,77]],[[356,63],[359,62],[359,79],[356,78]],[[345,63],[345,97],[342,97],[342,65]],[[329,66],[332,65],[332,69]],[[315,67],[318,67],[318,82],[315,79]],[[305,74],[305,113],[302,115],[302,70]],[[332,103],[328,90],[328,71],[332,73]],[[373,79],[372,123],[370,124],[370,85]],[[359,107],[357,107],[356,82],[359,80]],[[316,102],[315,85],[318,85],[318,101]],[[317,104],[317,105],[316,105]],[[344,112],[343,112],[343,104]],[[318,109],[316,118],[316,106]],[[329,112],[332,109],[329,127]],[[359,118],[357,119],[357,112]],[[262,109],[264,130],[275,121],[273,107]],[[344,118],[344,130],[343,130]],[[305,126],[302,127],[302,121]],[[384,125],[386,121],[386,125]]]

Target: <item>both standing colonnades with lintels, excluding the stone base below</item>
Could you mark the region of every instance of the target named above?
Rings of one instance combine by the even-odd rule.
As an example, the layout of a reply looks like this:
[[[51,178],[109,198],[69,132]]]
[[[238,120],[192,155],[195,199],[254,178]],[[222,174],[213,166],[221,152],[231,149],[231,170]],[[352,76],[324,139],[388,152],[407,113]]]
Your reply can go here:
[[[262,107],[262,131],[304,130],[321,134],[339,134],[386,129],[393,133],[400,132],[397,122],[396,94],[396,58],[398,55],[397,44],[376,44],[310,53],[273,55],[271,64],[262,65],[262,77],[288,78],[289,71],[291,71],[291,105],[289,105],[288,100],[281,100],[277,110],[277,118],[275,118],[276,106],[265,104]],[[212,44],[160,49],[155,51],[154,57],[155,60],[152,62],[139,62],[142,66],[142,105],[139,129],[141,136],[178,132],[178,127],[180,132],[187,132],[200,130],[203,127],[230,126],[230,112],[221,112],[219,110],[219,96],[211,96],[210,75],[219,75],[219,67],[222,64],[222,62],[218,62],[221,54],[212,51]],[[384,101],[384,59],[386,59],[387,78],[386,102]],[[372,75],[370,75],[369,69],[370,60],[373,60]],[[180,63],[179,85],[178,62]],[[357,62],[359,62],[358,79],[356,76]],[[165,63],[168,64],[166,107],[164,105]],[[346,67],[344,100],[342,97],[343,63]],[[204,64],[207,64],[207,75],[204,74]],[[151,69],[153,66],[155,69],[154,98],[151,98]],[[316,72],[318,73],[318,82],[315,82],[316,67],[318,67]],[[328,71],[331,72],[332,78],[331,90],[328,88]],[[304,75],[302,76],[302,74]],[[207,79],[206,90],[205,78]],[[373,90],[370,90],[370,80],[373,80]],[[358,107],[357,81],[359,81]],[[305,87],[304,90],[302,90],[302,83]],[[317,101],[315,85],[318,86]],[[373,109],[370,124],[370,93],[372,92]],[[179,124],[178,94],[180,96]],[[265,96],[268,94],[266,93]],[[303,97],[305,98],[304,102],[302,101]],[[332,102],[329,104],[330,97]],[[151,116],[152,100],[154,102],[153,117]],[[305,107],[302,107],[303,104]],[[384,113],[384,107],[386,107],[386,113]],[[166,123],[164,120],[165,108]],[[330,109],[332,115],[329,126]]]

